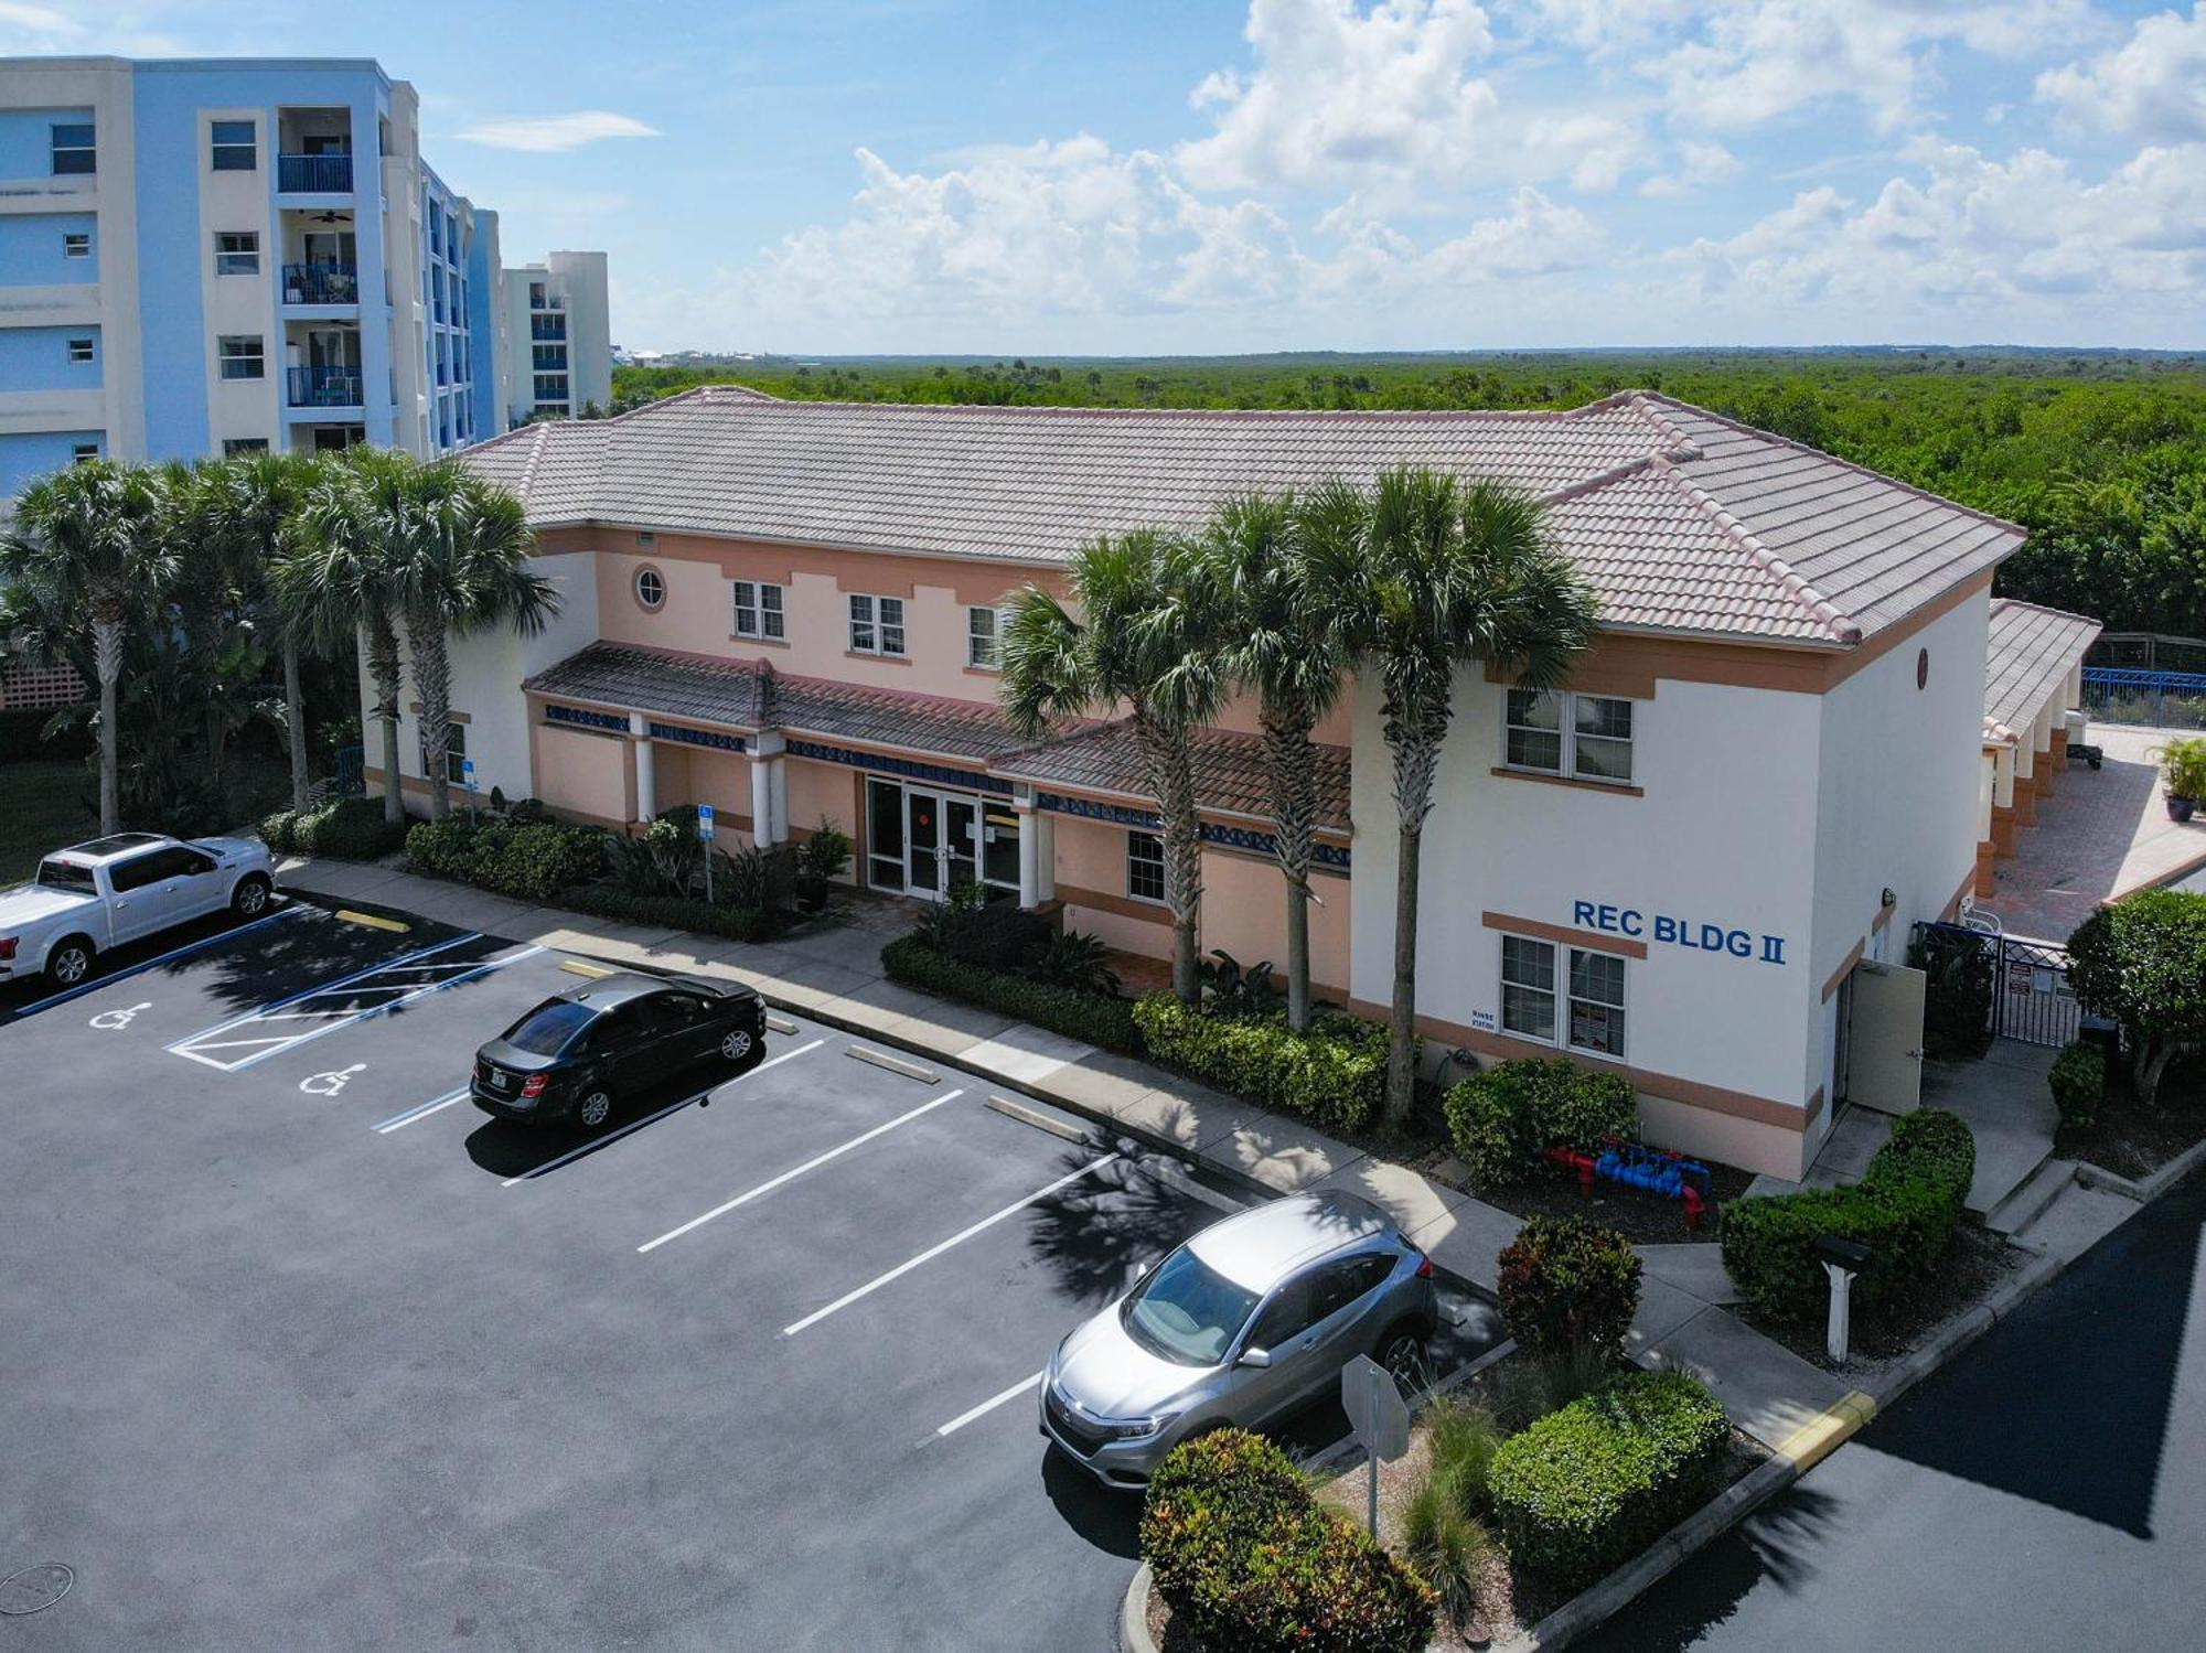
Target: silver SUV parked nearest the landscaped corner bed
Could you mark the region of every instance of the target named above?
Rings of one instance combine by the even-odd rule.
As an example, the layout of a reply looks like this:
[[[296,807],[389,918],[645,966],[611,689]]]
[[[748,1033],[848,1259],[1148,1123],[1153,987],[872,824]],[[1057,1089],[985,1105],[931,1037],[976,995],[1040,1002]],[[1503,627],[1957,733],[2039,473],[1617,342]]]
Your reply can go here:
[[[1374,1355],[1423,1371],[1438,1325],[1432,1258],[1354,1195],[1295,1195],[1227,1217],[1057,1344],[1041,1430],[1110,1485],[1227,1424],[1260,1428],[1335,1393]]]

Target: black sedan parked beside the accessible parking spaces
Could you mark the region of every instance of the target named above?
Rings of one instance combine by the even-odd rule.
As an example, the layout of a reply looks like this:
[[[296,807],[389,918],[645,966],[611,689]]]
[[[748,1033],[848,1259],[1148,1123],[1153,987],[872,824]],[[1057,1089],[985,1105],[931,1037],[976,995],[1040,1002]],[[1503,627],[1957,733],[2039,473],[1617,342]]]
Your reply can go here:
[[[765,1001],[750,987],[602,976],[507,1027],[474,1054],[468,1093],[499,1120],[596,1128],[622,1102],[702,1067],[750,1071],[765,1054]]]

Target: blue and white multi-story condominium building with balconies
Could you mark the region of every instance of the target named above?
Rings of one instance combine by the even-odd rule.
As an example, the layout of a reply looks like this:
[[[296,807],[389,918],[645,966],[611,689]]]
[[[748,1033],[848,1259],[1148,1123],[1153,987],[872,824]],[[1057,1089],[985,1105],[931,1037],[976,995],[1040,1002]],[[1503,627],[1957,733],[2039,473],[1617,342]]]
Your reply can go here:
[[[0,60],[0,496],[507,423],[499,220],[371,60]]]

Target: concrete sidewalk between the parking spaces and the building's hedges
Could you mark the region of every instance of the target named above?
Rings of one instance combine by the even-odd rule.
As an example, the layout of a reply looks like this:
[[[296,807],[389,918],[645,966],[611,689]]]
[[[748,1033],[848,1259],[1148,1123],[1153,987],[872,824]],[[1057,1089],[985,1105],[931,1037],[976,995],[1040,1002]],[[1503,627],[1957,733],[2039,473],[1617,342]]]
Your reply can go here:
[[[1487,1296],[1500,1276],[1496,1258],[1518,1232],[1516,1217],[1460,1188],[1374,1159],[1253,1102],[902,987],[880,968],[887,937],[878,928],[821,926],[781,941],[746,943],[527,906],[384,864],[287,857],[280,879],[298,890],[419,912],[512,941],[741,981],[770,1003],[957,1062],[1273,1192],[1350,1188],[1390,1212],[1441,1267]],[[1727,1311],[1736,1292],[1714,1245],[1648,1245],[1641,1258],[1646,1281],[1628,1344],[1632,1360],[1692,1371],[1716,1391],[1734,1424],[1771,1448],[1844,1395],[1835,1378]]]

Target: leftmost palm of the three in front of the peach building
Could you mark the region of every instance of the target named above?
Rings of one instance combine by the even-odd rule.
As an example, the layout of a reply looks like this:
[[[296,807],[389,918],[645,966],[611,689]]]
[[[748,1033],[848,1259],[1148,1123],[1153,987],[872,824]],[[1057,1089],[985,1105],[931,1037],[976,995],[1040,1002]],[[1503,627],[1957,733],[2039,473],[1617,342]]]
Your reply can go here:
[[[1070,575],[1070,608],[1037,586],[1010,604],[1004,710],[1021,734],[1039,738],[1057,719],[1127,707],[1165,822],[1171,990],[1193,1005],[1202,930],[1193,736],[1220,712],[1231,683],[1224,593],[1200,547],[1149,529],[1081,547]]]

